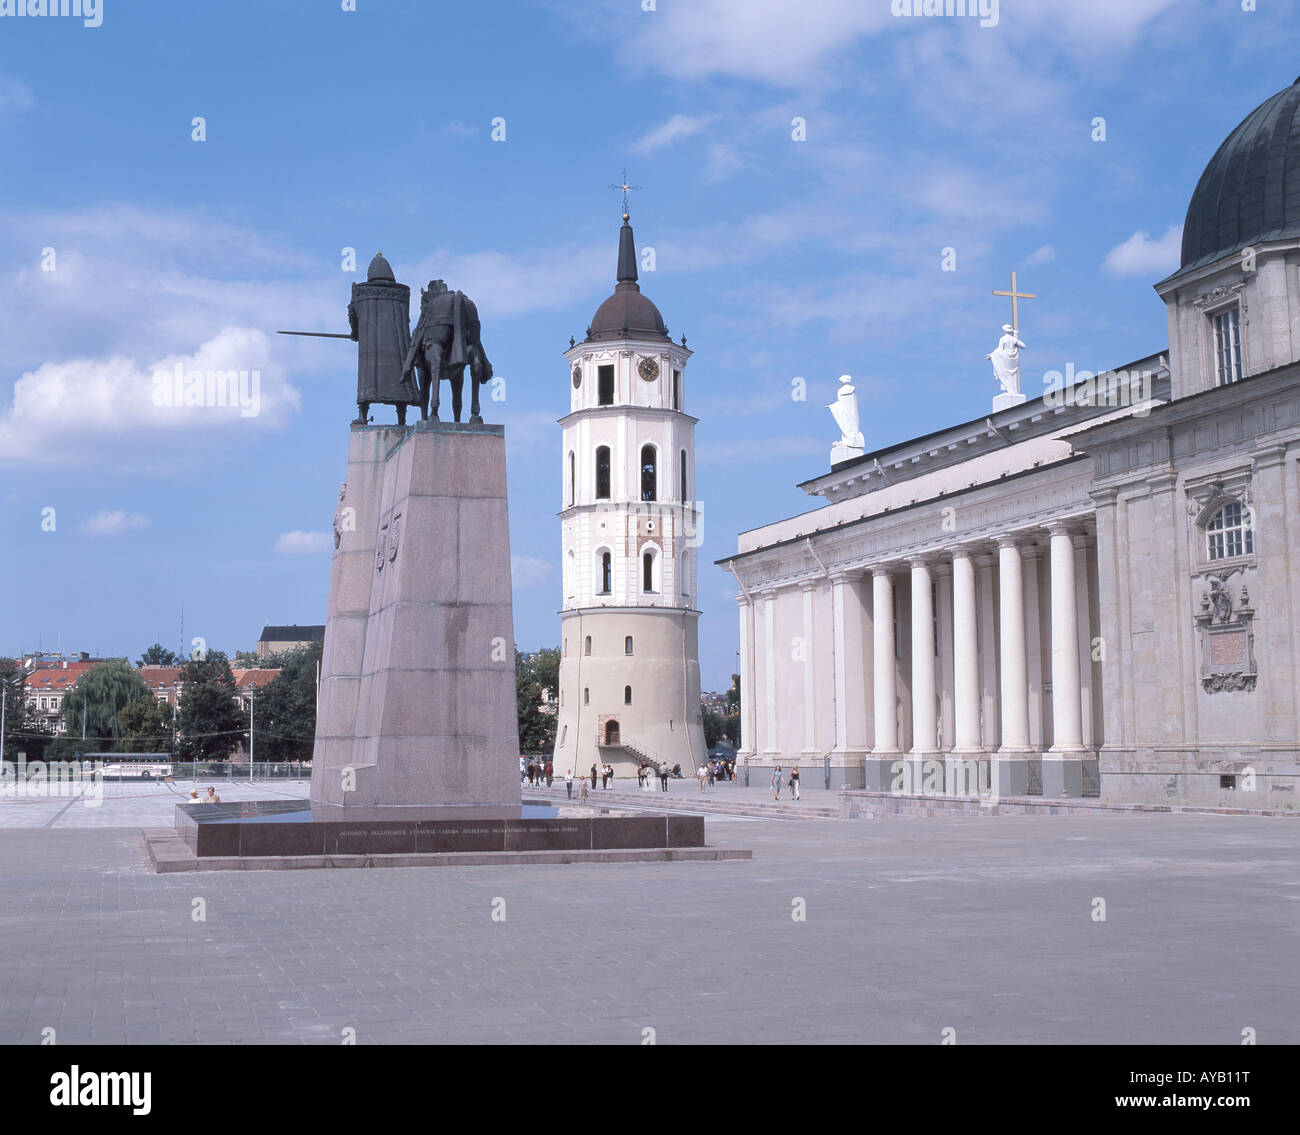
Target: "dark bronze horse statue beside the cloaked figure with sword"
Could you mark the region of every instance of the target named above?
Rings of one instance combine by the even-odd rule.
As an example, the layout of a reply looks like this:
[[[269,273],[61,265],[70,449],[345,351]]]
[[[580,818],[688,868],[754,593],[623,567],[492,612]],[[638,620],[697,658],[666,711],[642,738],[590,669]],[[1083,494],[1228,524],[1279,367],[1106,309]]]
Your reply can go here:
[[[430,280],[420,289],[420,320],[411,334],[411,346],[402,364],[402,374],[415,374],[420,390],[420,417],[438,420],[438,387],[451,382],[451,410],[460,421],[465,367],[473,384],[469,398],[469,424],[482,425],[478,413],[478,387],[491,378],[491,363],[484,351],[478,308],[463,291],[450,291],[441,280]],[[433,406],[430,411],[430,395]]]

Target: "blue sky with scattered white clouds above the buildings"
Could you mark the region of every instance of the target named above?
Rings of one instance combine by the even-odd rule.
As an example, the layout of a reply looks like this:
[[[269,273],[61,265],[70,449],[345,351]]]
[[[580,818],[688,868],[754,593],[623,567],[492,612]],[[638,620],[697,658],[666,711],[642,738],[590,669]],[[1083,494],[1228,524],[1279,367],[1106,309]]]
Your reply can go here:
[[[985,412],[1013,268],[1039,296],[1031,395],[1162,350],[1150,285],[1196,179],[1300,72],[1277,0],[1001,0],[989,27],[889,0],[355,7],[0,17],[0,653],[176,649],[182,608],[186,640],[230,653],[324,620],[355,347],[273,332],[346,330],[378,248],[478,304],[516,638],[554,645],[560,352],[612,289],[627,166],[642,289],[696,352],[701,663],[723,688],[736,589],[711,562],[818,503],[796,484],[827,468],[837,376],[868,447]],[[155,407],[177,359],[257,369],[259,412]]]

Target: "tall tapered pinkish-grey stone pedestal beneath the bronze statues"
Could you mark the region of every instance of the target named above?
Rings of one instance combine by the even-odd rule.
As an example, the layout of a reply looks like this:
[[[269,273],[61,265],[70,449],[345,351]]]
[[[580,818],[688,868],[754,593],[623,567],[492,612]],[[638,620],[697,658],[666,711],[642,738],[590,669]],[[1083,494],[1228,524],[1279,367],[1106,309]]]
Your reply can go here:
[[[334,527],[312,810],[517,815],[504,429],[354,426]]]

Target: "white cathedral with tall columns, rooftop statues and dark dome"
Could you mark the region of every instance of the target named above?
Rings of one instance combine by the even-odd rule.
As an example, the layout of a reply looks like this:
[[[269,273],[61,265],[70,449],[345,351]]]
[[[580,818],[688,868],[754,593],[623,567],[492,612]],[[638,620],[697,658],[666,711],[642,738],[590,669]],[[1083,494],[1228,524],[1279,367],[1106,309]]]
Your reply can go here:
[[[846,437],[824,504],[740,536],[751,775],[1297,806],[1300,81],[1213,156],[1156,291],[1167,350]]]

